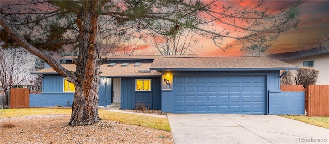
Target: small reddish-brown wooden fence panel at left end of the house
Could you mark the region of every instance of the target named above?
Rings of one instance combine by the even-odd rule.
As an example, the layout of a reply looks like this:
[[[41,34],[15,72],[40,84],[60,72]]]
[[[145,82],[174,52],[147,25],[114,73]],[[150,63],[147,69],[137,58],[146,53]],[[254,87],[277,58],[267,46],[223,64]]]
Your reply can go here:
[[[10,109],[29,107],[30,90],[27,88],[10,89]]]

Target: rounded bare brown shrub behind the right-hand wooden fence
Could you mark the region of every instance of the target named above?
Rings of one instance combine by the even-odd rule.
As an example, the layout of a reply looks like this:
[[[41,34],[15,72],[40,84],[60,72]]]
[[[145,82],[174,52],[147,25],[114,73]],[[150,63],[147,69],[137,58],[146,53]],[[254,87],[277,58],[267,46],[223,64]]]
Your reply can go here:
[[[319,70],[315,70],[310,67],[302,67],[301,69],[297,70],[295,76],[295,83],[296,85],[303,85],[306,88],[308,85],[314,85],[317,82],[319,75]]]

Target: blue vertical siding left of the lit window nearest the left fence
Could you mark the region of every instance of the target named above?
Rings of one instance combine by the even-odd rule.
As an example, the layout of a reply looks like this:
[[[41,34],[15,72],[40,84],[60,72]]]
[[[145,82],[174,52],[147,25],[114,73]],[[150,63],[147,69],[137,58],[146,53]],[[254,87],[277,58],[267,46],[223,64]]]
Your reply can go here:
[[[42,77],[42,93],[64,93],[64,76],[59,74],[43,74]]]

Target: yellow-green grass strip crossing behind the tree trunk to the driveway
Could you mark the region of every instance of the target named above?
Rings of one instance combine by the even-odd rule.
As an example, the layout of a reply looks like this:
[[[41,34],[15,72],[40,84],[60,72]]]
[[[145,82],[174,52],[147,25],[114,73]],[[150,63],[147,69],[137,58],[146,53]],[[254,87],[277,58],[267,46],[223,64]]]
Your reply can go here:
[[[98,112],[99,112],[99,117],[102,119],[118,121],[124,124],[137,125],[137,126],[170,131],[169,121],[166,118],[109,112],[105,110],[99,110]],[[71,108],[0,109],[0,118],[20,117],[20,116],[28,116],[28,115],[49,115],[49,114],[70,115],[71,113],[72,113]]]

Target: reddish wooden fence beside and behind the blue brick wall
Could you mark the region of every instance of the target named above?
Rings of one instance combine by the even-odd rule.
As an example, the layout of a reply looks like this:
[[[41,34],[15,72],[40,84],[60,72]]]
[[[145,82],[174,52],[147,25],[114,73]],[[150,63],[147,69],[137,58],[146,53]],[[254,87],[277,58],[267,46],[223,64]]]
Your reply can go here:
[[[307,116],[329,116],[329,85],[281,85],[281,91],[305,91]]]

